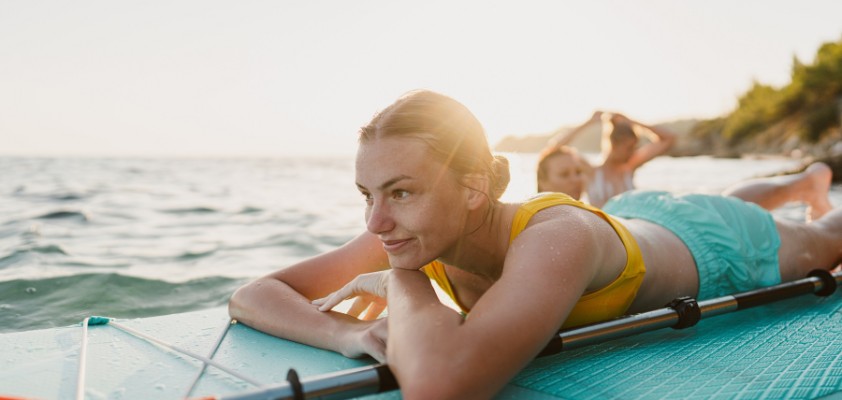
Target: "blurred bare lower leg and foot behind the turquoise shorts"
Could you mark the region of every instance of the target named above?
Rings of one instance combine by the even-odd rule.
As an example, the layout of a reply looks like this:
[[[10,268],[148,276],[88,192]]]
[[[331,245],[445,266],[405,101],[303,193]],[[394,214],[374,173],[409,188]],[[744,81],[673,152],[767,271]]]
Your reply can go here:
[[[740,182],[725,189],[722,194],[755,203],[770,211],[789,202],[807,203],[807,220],[815,221],[833,208],[828,199],[832,178],[830,167],[817,162],[798,174]]]

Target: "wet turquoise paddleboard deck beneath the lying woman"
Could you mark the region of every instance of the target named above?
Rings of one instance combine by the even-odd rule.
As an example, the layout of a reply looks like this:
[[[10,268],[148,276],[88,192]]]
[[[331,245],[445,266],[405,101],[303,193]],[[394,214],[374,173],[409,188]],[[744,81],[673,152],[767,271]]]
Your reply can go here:
[[[225,308],[116,320],[207,356],[228,325]],[[108,324],[88,328],[85,398],[180,399],[202,362]],[[75,398],[79,325],[0,335],[0,397]],[[501,340],[500,346],[505,346]],[[494,351],[494,349],[489,349]],[[230,327],[218,362],[265,385],[374,364]],[[431,384],[435,384],[431,382]],[[190,397],[230,396],[255,387],[213,366]],[[533,361],[501,399],[839,398],[842,395],[842,291],[800,296]],[[398,391],[366,396],[399,399]]]

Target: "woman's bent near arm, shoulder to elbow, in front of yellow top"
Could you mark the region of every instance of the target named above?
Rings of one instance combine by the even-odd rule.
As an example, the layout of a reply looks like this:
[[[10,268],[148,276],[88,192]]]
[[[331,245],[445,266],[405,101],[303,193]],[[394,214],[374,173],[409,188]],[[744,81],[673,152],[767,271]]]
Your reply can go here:
[[[436,300],[421,272],[393,270],[387,359],[403,397],[498,392],[559,330],[605,261],[586,226],[593,223],[585,217],[524,230],[509,247],[503,275],[465,320]]]

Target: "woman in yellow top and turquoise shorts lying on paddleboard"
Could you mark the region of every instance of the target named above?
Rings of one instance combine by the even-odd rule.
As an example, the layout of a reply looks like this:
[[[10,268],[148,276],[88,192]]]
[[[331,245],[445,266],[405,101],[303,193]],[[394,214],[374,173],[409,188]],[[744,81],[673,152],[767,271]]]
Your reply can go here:
[[[799,279],[842,255],[840,209],[802,224],[733,197],[632,191],[603,212],[558,193],[502,203],[507,183],[467,108],[411,92],[360,131],[367,231],[243,286],[231,317],[388,361],[407,399],[488,398],[562,327]],[[331,311],[346,298],[347,314]]]

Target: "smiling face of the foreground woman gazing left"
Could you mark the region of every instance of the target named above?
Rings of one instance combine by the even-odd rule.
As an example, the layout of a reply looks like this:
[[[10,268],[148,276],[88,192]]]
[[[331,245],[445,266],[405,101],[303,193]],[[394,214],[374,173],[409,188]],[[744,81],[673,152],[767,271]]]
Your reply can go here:
[[[360,144],[357,188],[366,227],[393,268],[418,269],[455,247],[468,215],[467,191],[417,139],[380,138]]]

